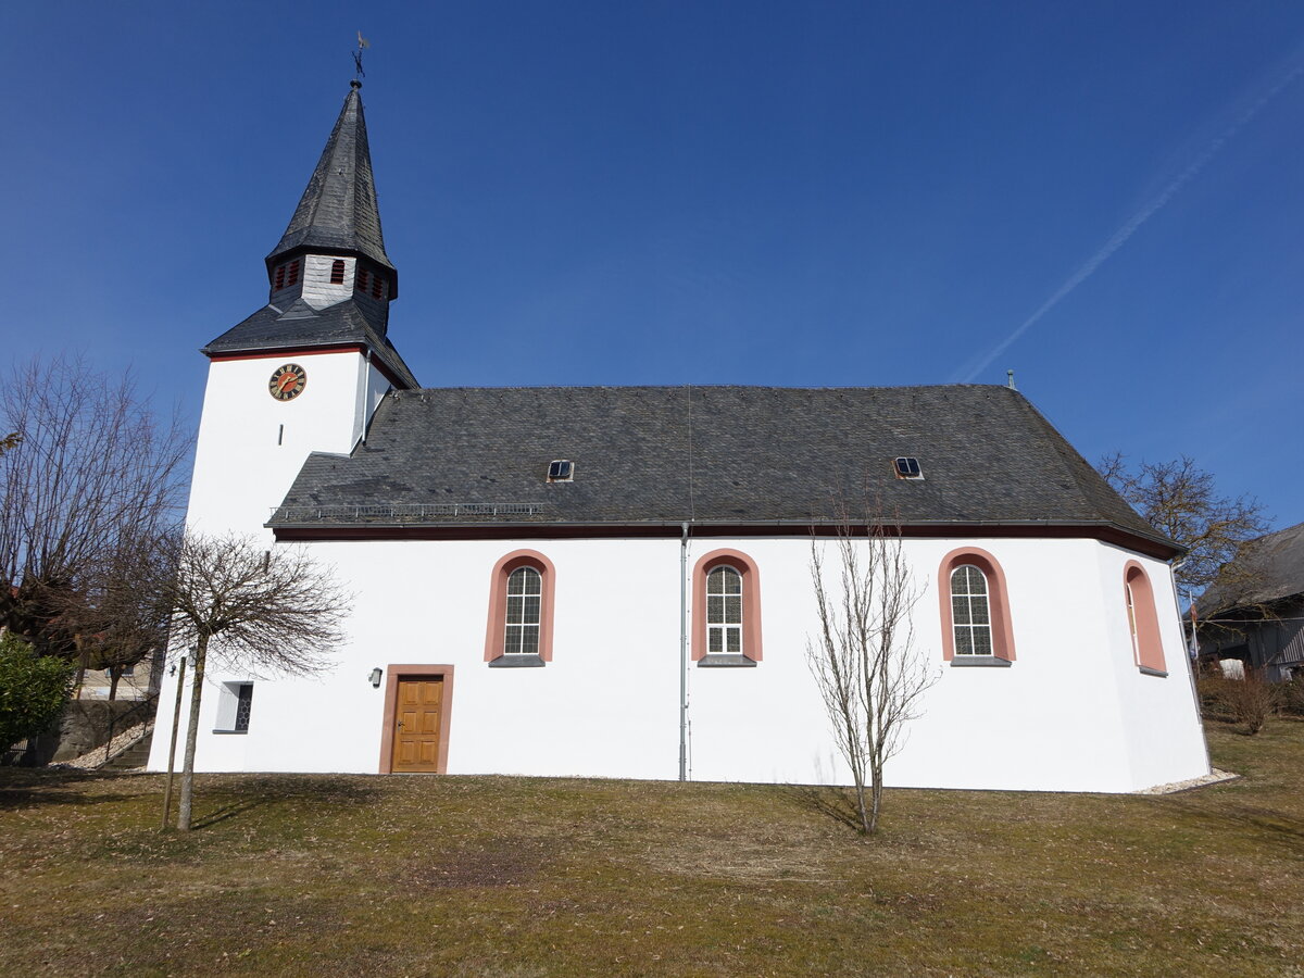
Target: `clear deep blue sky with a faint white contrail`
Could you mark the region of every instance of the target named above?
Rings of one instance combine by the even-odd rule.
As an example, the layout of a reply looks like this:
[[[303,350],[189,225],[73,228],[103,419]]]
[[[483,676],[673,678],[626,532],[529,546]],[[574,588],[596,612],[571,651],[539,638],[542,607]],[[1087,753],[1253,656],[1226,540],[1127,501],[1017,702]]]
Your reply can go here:
[[[372,42],[426,386],[1003,383],[1304,520],[1304,4],[8,5],[12,357],[198,417]]]

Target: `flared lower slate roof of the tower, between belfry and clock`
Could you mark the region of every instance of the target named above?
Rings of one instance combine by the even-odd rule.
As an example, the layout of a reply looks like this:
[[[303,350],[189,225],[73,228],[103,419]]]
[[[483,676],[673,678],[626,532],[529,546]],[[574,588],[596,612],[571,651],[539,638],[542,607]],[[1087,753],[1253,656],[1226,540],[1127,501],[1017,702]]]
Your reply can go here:
[[[385,364],[406,386],[417,386],[416,378],[383,329],[378,329],[353,300],[329,305],[321,312],[314,310],[303,299],[296,299],[293,305],[286,309],[265,305],[209,343],[201,352],[213,356],[237,351],[333,347],[349,343],[366,346],[372,356]]]

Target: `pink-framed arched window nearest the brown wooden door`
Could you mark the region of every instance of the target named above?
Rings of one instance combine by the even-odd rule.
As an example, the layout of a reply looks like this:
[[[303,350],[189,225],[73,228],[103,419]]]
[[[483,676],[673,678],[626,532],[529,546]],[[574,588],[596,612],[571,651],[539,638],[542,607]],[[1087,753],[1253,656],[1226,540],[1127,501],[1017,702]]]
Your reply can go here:
[[[553,659],[553,562],[537,550],[499,559],[489,580],[485,661],[492,666],[540,666]]]

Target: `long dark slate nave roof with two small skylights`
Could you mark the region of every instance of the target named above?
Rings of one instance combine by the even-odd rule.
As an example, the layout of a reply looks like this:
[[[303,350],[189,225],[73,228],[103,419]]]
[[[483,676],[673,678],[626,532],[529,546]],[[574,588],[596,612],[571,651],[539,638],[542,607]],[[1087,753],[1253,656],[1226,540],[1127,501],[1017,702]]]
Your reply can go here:
[[[553,459],[572,482],[545,480]],[[807,527],[867,490],[906,524],[1094,524],[1176,550],[1021,394],[978,385],[403,391],[352,455],[309,456],[269,526]]]

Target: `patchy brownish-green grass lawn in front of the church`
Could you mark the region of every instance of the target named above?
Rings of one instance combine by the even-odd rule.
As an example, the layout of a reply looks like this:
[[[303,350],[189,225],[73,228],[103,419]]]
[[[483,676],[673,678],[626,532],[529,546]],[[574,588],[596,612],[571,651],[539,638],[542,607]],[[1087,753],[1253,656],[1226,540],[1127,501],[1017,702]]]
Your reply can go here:
[[[1304,975],[1304,722],[1163,797],[0,769],[0,974]]]

